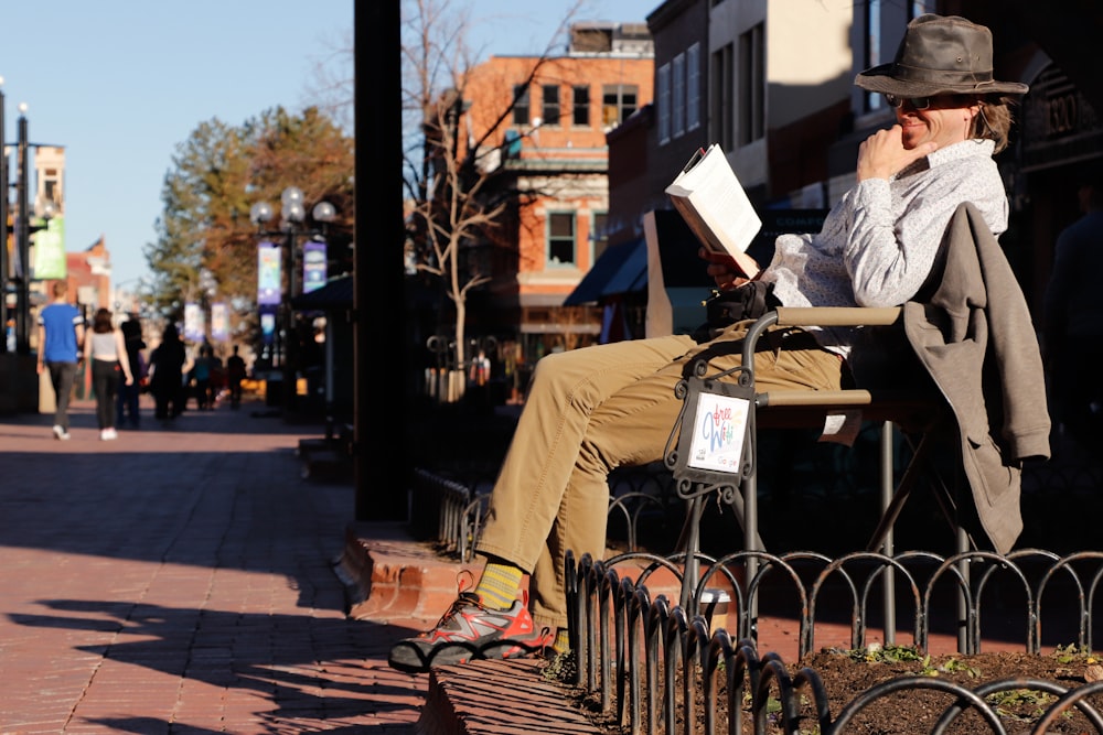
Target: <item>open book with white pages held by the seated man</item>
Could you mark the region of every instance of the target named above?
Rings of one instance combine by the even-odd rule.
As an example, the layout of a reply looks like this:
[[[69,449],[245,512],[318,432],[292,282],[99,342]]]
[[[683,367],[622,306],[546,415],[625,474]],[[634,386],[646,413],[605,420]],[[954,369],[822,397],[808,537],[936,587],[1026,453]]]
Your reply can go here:
[[[716,143],[698,149],[666,193],[705,249],[731,256],[747,278],[758,275],[759,267],[746,250],[762,220]]]

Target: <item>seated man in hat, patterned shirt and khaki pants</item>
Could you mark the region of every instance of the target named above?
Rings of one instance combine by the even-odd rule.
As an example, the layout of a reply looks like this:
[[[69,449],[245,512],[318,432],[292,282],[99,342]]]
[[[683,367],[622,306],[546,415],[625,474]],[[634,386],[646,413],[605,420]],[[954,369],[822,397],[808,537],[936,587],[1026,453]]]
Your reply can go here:
[[[880,93],[896,125],[858,149],[857,182],[814,235],[778,238],[757,274],[785,306],[893,306],[932,270],[957,206],[976,205],[992,233],[1007,228],[1008,203],[993,155],[1007,144],[1009,102],[1026,85],[993,78],[988,29],[962,18],[909,23],[893,62],[855,80]],[[747,278],[713,260],[720,289]],[[714,370],[738,365],[747,321],[688,335],[597,345],[539,360],[512,445],[493,489],[478,551],[478,584],[460,585],[437,626],[392,649],[406,671],[472,658],[510,658],[567,648],[564,559],[601,559],[615,467],[661,461],[682,408],[674,386],[703,350]],[[785,329],[780,349],[756,361],[757,389],[837,390],[852,350],[876,349],[855,328]],[[528,588],[523,577],[531,574]],[[528,608],[528,592],[532,609]]]

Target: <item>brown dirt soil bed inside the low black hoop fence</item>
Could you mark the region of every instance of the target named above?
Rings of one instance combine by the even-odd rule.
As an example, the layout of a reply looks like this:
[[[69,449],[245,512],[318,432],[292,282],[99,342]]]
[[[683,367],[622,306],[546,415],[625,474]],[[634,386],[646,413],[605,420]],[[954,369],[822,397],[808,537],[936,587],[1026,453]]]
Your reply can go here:
[[[812,668],[823,681],[827,695],[827,707],[831,722],[837,722],[839,714],[847,705],[857,700],[867,690],[882,682],[903,677],[921,675],[927,679],[938,679],[954,682],[967,690],[1003,680],[1019,680],[1017,685],[1006,691],[990,694],[986,698],[989,705],[999,715],[1004,732],[1009,734],[1032,733],[1039,720],[1057,701],[1059,693],[1031,690],[1025,687],[1022,680],[1042,680],[1051,682],[1065,690],[1082,687],[1089,681],[1103,677],[1103,667],[1096,658],[1086,655],[1073,655],[1065,651],[1054,651],[1049,655],[1032,656],[1022,652],[993,652],[977,656],[940,656],[921,657],[911,648],[892,648],[886,651],[868,653],[865,658],[857,652],[823,650],[790,666],[790,675],[795,675],[803,667]],[[722,677],[720,677],[722,680]],[[623,735],[629,727],[618,726],[612,715],[604,716],[600,712],[599,693],[587,694],[567,684],[568,698],[587,713],[589,720],[604,735]],[[753,728],[750,699],[745,695],[742,718],[743,733],[782,733],[786,732],[780,717],[780,702],[777,699],[778,688],[774,684],[768,701],[768,725],[765,729]],[[660,694],[661,696],[661,694]],[[728,732],[728,716],[722,704],[725,691],[717,698],[716,733]],[[682,732],[681,710],[684,699],[678,694],[677,709],[678,732]],[[800,695],[800,718],[791,732],[801,734],[820,733],[813,696],[808,688],[802,688]],[[869,706],[861,710],[850,720],[844,732],[860,735],[915,735],[935,732],[935,725],[945,709],[953,704],[953,694],[932,689],[902,689],[900,691],[877,698]],[[1092,706],[1103,707],[1103,694],[1088,698]],[[696,727],[693,732],[704,733],[703,707],[695,707]],[[646,724],[644,724],[646,732]],[[655,732],[665,732],[662,722]],[[942,731],[956,735],[975,735],[998,732],[977,713],[967,710]],[[1081,734],[1101,732],[1083,713],[1072,711],[1057,716],[1039,733]]]

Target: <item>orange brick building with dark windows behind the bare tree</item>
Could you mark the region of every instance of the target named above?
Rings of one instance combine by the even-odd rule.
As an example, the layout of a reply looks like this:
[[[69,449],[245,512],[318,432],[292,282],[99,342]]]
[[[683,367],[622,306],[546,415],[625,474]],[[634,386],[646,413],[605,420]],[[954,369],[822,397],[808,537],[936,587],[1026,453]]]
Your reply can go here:
[[[563,302],[606,247],[606,136],[652,101],[643,23],[579,23],[570,37],[560,56],[492,56],[474,67],[459,121],[468,144],[485,141],[480,165],[497,171],[495,191],[517,193],[483,244],[491,280],[470,299],[470,334],[516,341],[531,358],[600,329],[598,312]]]

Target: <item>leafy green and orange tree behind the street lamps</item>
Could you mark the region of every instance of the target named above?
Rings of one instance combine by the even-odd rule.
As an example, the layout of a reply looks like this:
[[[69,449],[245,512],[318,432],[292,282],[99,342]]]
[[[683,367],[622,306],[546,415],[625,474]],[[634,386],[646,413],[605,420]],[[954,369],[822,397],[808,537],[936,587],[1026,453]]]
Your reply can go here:
[[[326,229],[330,274],[349,272],[353,170],[352,139],[317,108],[298,116],[276,108],[239,128],[217,119],[201,123],[176,148],[158,238],[144,250],[156,305],[179,320],[184,302],[216,294],[231,304],[236,324],[255,326],[258,238],[249,208],[278,203],[292,184],[308,212],[323,199],[335,207],[338,219]]]

